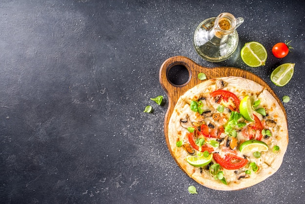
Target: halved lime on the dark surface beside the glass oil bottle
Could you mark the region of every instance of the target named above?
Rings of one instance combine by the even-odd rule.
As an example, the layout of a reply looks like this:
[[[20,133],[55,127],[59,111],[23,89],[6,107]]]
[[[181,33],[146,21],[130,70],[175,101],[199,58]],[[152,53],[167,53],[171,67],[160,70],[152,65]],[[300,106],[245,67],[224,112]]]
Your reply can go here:
[[[240,55],[242,60],[250,67],[265,65],[267,60],[265,47],[256,41],[247,42],[242,48]]]

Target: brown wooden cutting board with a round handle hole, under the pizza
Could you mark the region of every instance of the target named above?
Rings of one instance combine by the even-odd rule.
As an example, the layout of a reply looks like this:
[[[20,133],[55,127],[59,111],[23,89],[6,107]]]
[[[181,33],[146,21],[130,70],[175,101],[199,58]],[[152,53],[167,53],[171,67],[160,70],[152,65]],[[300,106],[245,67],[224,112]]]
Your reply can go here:
[[[187,82],[185,82],[182,85],[173,84],[169,80],[170,69],[177,65],[180,67],[181,66],[185,67],[189,73],[189,78]],[[172,154],[172,150],[168,140],[168,125],[170,118],[172,116],[172,111],[181,95],[183,95],[187,90],[191,89],[195,85],[203,82],[198,79],[197,75],[199,73],[205,73],[207,76],[207,80],[212,78],[235,76],[235,77],[243,77],[245,79],[249,79],[261,84],[262,86],[266,87],[267,90],[272,94],[272,96],[277,100],[286,117],[286,111],[281,100],[276,96],[276,94],[273,92],[270,86],[255,74],[235,67],[213,67],[213,68],[203,67],[187,57],[175,56],[164,61],[163,64],[161,65],[159,72],[159,81],[163,89],[165,90],[169,100],[169,107],[164,120],[164,134],[165,134],[167,146],[171,154]]]

